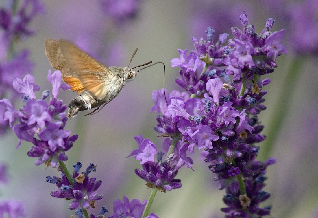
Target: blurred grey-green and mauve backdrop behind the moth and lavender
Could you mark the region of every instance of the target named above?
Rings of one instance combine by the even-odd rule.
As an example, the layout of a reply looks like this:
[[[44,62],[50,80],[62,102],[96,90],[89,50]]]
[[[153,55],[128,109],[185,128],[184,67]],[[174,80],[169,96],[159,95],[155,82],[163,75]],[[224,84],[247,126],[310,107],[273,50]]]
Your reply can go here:
[[[314,217],[318,205],[318,74],[315,66],[318,8],[315,0],[298,3],[144,0],[139,3],[137,14],[131,15],[134,18],[128,17],[127,20],[111,20],[97,0],[43,2],[45,14],[39,15],[31,25],[36,35],[19,44],[19,47],[28,47],[31,51],[31,59],[36,63],[35,81],[42,91],[51,87],[46,75],[52,67],[44,53],[44,41],[48,38],[70,39],[107,66],[127,66],[131,54],[138,47],[130,67],[150,60],[164,62],[166,88],[171,91],[180,89],[174,83],[178,71],[169,67],[169,60],[178,57],[177,48],[193,49],[191,38],[205,38],[207,26],[213,27],[217,35],[227,32],[232,37],[230,27],[241,28],[237,17],[243,10],[256,32],[265,27],[267,17],[273,18],[276,21],[273,31],[287,30],[284,38],[289,54],[277,58],[278,68],[269,75],[272,82],[265,88],[268,91],[265,96],[267,110],[259,116],[266,126],[263,134],[266,135],[269,130],[271,116],[279,107],[277,101],[293,61],[300,60],[301,72],[286,96],[286,99],[291,99],[291,104],[271,153],[277,158],[277,163],[269,167],[267,174],[265,191],[272,196],[266,205],[273,204],[272,216],[276,218]],[[310,11],[307,10],[308,5],[312,6]],[[308,24],[307,31],[302,30],[302,22]],[[311,46],[306,43],[308,37],[315,42]],[[90,175],[103,181],[99,193],[104,198],[96,202],[95,209],[89,210],[89,213],[97,214],[101,206],[106,206],[111,214],[113,201],[122,200],[123,195],[130,200],[148,199],[150,190],[134,173],[139,162],[125,157],[137,148],[134,137],[139,134],[160,147],[163,139],[155,137],[158,136],[153,130],[156,115],[149,114],[149,108],[153,105],[152,91],[162,87],[162,66],[147,68],[98,114],[84,116],[86,112],[80,112],[67,122],[65,129],[79,134],[79,140],[67,153],[69,170],[77,161],[82,162],[83,167],[94,163],[97,171]],[[75,95],[66,91],[61,92],[59,97],[68,104]],[[30,144],[23,142],[16,150],[18,139],[12,131],[0,140],[0,160],[9,165],[10,173],[8,185],[1,186],[1,197],[21,200],[26,217],[74,215],[67,209],[70,202],[50,196],[56,186],[45,182],[46,176],[60,174],[52,168],[45,170],[44,165],[35,166],[35,159],[26,156]],[[261,152],[262,145],[259,160],[264,160]],[[192,157],[195,171],[184,168],[176,177],[182,180],[183,187],[157,193],[150,212],[164,218],[224,216],[220,208],[224,207],[222,196],[225,192],[218,190],[218,184],[208,170],[209,164],[198,160],[199,157],[197,151]]]

